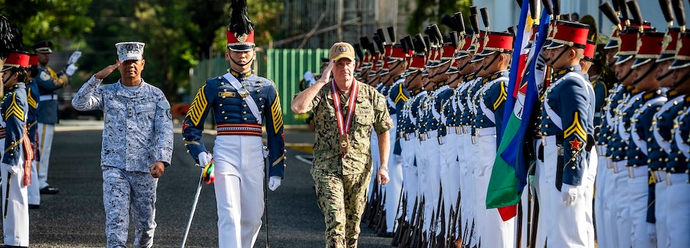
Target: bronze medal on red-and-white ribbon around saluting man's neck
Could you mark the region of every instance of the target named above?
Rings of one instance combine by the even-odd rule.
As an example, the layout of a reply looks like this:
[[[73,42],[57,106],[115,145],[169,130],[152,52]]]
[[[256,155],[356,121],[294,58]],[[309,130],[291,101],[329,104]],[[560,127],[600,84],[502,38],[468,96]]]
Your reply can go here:
[[[355,99],[357,99],[357,92],[359,90],[357,81],[353,81],[353,88],[350,94],[350,99],[348,101],[347,114],[344,117],[342,113],[342,108],[340,106],[340,96],[338,94],[338,88],[335,85],[335,81],[331,81],[330,89],[333,94],[333,105],[335,107],[335,119],[338,122],[338,148],[341,158],[347,156],[347,151],[350,147],[350,127],[352,123],[352,116],[355,113]]]

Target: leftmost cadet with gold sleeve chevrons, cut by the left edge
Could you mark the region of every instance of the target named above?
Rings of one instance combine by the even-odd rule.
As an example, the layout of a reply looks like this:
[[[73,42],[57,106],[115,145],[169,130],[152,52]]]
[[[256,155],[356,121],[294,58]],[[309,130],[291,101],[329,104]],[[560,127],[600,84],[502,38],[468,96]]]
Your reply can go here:
[[[31,185],[31,144],[26,135],[26,74],[29,53],[8,55],[0,73],[6,88],[0,104],[0,144],[3,144],[2,219],[3,247],[29,247],[29,201],[26,186]]]

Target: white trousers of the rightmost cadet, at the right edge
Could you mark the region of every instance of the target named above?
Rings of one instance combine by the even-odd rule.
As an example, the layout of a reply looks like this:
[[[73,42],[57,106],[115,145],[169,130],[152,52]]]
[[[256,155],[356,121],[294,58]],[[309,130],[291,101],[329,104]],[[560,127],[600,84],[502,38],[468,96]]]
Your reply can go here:
[[[666,247],[690,247],[690,183],[688,174],[666,174]],[[657,208],[659,205],[657,204]]]

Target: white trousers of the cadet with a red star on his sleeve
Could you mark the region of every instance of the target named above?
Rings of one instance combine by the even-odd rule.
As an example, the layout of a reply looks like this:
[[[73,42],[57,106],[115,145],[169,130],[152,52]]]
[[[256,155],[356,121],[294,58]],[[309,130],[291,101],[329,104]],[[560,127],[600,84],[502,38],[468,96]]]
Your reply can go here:
[[[588,228],[585,204],[585,175],[583,185],[577,190],[577,200],[572,205],[562,201],[561,192],[556,188],[556,169],[558,165],[558,147],[556,144],[544,146],[545,185],[539,185],[540,190],[549,194],[549,219],[546,227],[546,247],[588,247]],[[592,182],[594,183],[594,182]],[[590,201],[592,199],[589,199]]]

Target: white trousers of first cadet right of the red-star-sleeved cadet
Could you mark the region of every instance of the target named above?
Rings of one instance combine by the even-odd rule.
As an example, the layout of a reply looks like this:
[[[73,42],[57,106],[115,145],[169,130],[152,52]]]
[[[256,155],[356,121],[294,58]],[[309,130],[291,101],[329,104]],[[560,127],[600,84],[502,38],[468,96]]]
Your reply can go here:
[[[597,243],[602,248],[615,247],[613,243],[615,236],[613,235],[613,224],[611,223],[611,210],[609,210],[607,205],[607,201],[611,201],[611,199],[606,197],[607,185],[610,180],[609,175],[612,172],[606,165],[611,163],[611,160],[602,152],[606,151],[606,145],[597,146],[597,149],[599,149],[599,163],[597,165],[597,179],[595,180],[597,191],[595,192],[594,201]]]

